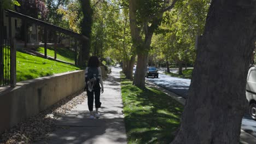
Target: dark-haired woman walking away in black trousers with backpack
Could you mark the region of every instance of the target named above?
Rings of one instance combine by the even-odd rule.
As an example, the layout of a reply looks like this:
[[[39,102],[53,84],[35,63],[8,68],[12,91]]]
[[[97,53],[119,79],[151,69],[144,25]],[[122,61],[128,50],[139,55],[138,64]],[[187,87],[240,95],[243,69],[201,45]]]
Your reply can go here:
[[[100,95],[104,92],[101,68],[99,67],[100,61],[98,57],[92,56],[89,59],[88,67],[85,69],[85,82],[86,82],[86,92],[88,97],[88,107],[90,111],[90,119],[95,117],[100,117],[98,108],[101,107]],[[101,86],[100,86],[101,85]],[[93,106],[95,98],[95,108],[96,113],[94,115]]]

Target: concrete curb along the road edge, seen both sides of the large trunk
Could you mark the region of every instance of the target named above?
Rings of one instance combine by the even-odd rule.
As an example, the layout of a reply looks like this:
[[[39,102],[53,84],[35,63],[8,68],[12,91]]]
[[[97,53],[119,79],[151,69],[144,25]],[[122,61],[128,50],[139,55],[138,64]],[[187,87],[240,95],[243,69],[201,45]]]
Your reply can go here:
[[[164,92],[165,94],[167,94],[169,97],[177,100],[179,103],[181,103],[182,105],[185,105],[185,99],[180,97],[179,95],[173,93],[173,92],[170,92],[168,91],[167,89],[165,88],[162,88],[158,85],[155,85],[153,82],[150,82],[150,81],[146,81],[146,85],[147,86],[150,86],[150,87],[155,87],[155,88],[158,88],[160,89],[162,92]],[[251,144],[251,143],[256,143],[256,137],[254,137],[253,135],[250,135],[248,133],[246,133],[246,131],[242,130],[241,129],[241,134],[240,134],[240,142],[242,144]]]

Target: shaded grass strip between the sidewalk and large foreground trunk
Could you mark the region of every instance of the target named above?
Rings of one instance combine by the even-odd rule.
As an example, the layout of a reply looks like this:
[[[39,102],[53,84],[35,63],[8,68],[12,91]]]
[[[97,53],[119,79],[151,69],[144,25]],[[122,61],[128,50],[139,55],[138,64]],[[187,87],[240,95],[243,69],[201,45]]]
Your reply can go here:
[[[156,88],[139,89],[121,74],[128,143],[170,143],[183,106]]]

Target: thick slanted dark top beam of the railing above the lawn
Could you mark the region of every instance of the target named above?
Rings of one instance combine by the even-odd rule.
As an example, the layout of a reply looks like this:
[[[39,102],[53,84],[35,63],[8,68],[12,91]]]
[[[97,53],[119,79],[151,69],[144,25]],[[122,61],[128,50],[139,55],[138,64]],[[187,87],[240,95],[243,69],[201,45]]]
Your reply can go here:
[[[36,25],[40,25],[40,26],[46,27],[48,29],[51,29],[52,31],[58,31],[58,32],[61,32],[61,33],[67,34],[67,35],[71,35],[72,37],[77,38],[77,39],[81,39],[81,40],[88,40],[89,39],[85,35],[75,33],[73,31],[70,31],[68,29],[65,29],[65,28],[62,28],[62,27],[59,27],[59,26],[52,25],[48,22],[44,22],[44,21],[41,21],[41,20],[38,20],[38,19],[34,19],[33,17],[27,16],[27,15],[24,15],[24,14],[21,14],[21,13],[17,13],[13,10],[5,10],[5,13],[7,13],[8,16],[10,16],[10,17],[18,17],[20,19],[35,23]]]

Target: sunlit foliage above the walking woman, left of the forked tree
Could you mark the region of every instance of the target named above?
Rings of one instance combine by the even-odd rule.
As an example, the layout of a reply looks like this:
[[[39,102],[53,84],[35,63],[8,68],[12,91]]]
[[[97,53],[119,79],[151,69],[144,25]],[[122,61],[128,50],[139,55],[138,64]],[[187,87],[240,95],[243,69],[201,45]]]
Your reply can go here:
[[[118,1],[94,1],[92,53],[98,57],[128,60],[132,55],[129,10]]]

